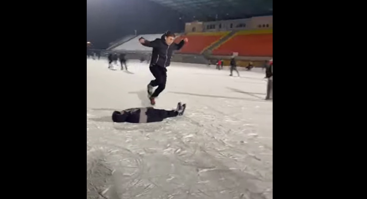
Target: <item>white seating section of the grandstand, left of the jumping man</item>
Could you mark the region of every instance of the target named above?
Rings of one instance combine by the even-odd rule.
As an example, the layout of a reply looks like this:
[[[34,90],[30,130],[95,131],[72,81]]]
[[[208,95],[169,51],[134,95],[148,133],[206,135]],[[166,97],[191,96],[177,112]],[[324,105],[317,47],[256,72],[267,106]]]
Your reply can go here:
[[[138,39],[140,37],[144,37],[146,40],[153,41],[157,38],[161,38],[162,35],[163,35],[163,33],[156,34],[156,35],[139,35],[139,36],[136,37],[136,39],[132,39],[130,41],[127,41],[126,43],[123,43],[120,46],[117,46],[113,50],[116,50],[116,51],[134,51],[134,52],[152,51],[152,48],[148,48],[148,47],[145,47],[145,46],[141,45],[139,43]]]

